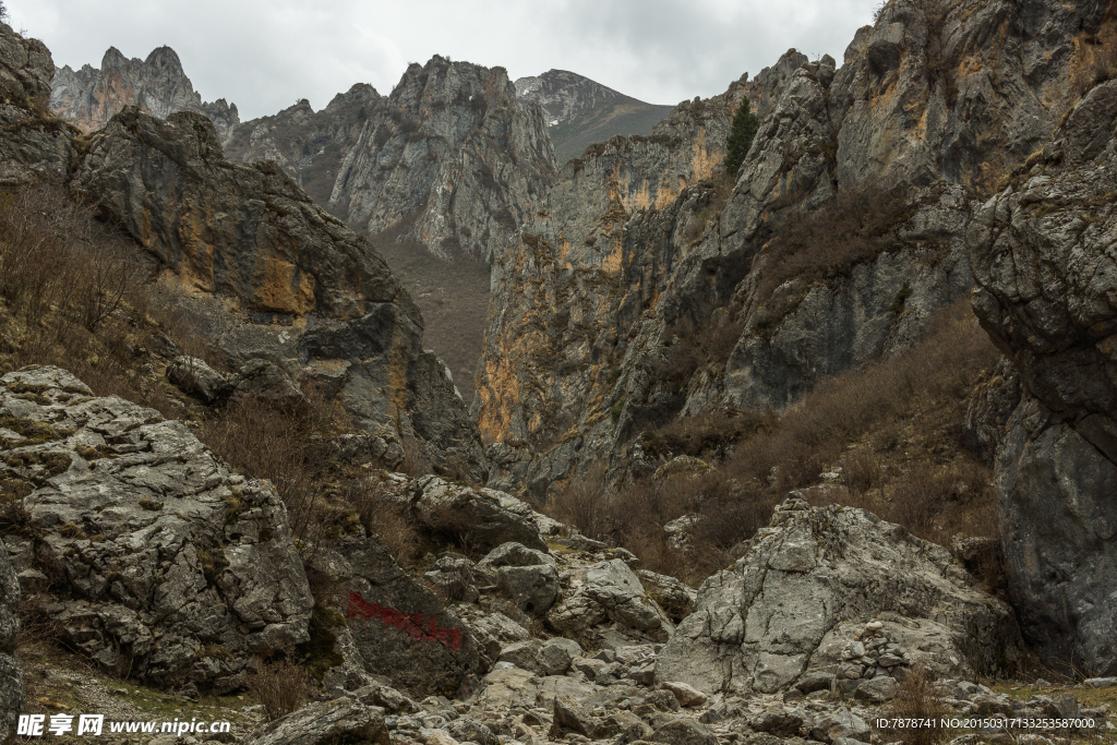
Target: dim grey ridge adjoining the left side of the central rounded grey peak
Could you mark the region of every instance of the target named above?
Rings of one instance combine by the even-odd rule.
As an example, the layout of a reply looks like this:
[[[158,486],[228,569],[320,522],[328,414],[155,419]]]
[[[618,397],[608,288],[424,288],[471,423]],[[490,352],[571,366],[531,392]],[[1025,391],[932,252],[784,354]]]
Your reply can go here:
[[[328,207],[342,161],[383,101],[357,83],[315,112],[305,98],[273,116],[245,122],[225,141],[235,163],[275,161],[319,207]]]

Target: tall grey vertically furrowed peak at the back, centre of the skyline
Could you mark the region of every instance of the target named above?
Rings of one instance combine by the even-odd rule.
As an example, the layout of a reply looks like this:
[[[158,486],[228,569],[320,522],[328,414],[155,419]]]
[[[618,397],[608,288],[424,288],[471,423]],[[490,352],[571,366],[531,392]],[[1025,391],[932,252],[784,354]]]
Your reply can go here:
[[[436,256],[503,249],[556,174],[543,109],[503,67],[436,55],[367,112],[330,209],[371,233],[394,228]]]

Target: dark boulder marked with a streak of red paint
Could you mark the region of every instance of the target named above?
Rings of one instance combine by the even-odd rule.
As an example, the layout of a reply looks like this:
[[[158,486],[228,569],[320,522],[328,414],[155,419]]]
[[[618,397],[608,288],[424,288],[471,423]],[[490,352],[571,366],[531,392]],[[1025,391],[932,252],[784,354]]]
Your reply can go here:
[[[484,672],[469,628],[399,567],[380,536],[359,533],[317,548],[308,573],[334,590],[326,605],[346,627],[336,649],[365,672],[420,698],[456,695]]]

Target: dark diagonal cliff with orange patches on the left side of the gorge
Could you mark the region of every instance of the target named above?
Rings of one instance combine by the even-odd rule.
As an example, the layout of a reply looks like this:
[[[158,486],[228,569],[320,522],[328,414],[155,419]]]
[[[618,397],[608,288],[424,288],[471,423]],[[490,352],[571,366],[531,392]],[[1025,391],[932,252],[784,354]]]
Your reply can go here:
[[[71,185],[160,261],[184,318],[229,366],[261,359],[316,384],[394,447],[485,472],[477,428],[423,321],[375,248],[275,163],[235,165],[194,113],[125,108],[88,143]],[[370,458],[371,460],[372,458]]]

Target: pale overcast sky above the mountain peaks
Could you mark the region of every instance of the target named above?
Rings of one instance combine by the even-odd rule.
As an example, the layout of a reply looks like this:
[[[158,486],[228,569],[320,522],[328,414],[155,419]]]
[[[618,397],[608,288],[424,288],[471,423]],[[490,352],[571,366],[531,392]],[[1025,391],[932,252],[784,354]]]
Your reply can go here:
[[[842,61],[879,0],[6,0],[8,22],[55,65],[101,66],[109,46],[144,58],[168,45],[204,101],[241,120],[298,98],[315,109],[354,83],[391,92],[435,54],[515,79],[551,68],[652,104],[723,93],[790,47]]]

